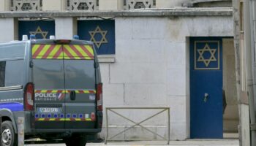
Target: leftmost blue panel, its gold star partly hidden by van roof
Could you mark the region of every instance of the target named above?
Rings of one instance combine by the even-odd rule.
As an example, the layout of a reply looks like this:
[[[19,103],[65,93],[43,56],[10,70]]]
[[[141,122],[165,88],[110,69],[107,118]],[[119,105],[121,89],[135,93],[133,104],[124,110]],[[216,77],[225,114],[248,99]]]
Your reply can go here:
[[[49,39],[50,35],[55,35],[54,20],[20,20],[19,21],[19,40],[22,35],[36,34],[36,39]]]

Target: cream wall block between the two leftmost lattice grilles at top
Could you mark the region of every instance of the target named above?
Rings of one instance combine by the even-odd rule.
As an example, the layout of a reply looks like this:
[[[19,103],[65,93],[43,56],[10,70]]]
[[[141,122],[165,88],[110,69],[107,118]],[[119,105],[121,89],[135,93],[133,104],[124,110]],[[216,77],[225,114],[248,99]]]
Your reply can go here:
[[[67,1],[63,0],[42,0],[43,11],[64,11]]]

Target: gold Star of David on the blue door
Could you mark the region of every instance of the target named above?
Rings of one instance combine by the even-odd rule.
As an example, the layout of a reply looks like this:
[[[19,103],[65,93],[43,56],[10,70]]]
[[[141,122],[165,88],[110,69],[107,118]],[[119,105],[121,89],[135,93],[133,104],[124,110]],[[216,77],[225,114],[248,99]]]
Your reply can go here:
[[[211,53],[211,57],[206,59],[203,57],[203,54],[208,51],[209,53]],[[217,61],[217,59],[215,58],[214,54],[216,53],[217,49],[211,49],[211,47],[209,47],[208,44],[206,44],[205,47],[203,47],[203,49],[197,49],[197,53],[199,53],[199,58],[197,58],[198,62],[203,62],[206,67],[208,67],[208,65],[211,63],[211,61]]]

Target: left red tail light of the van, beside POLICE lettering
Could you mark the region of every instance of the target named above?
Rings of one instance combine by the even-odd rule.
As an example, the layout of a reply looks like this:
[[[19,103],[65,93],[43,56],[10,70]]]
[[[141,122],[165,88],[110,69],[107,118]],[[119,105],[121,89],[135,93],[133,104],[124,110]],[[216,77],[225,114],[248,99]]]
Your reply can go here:
[[[34,84],[29,82],[24,91],[24,110],[34,110]]]

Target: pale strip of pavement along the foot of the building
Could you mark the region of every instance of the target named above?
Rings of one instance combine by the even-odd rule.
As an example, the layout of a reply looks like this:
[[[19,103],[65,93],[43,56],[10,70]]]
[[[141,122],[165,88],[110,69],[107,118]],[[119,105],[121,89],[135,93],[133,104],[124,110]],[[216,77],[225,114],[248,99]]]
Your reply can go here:
[[[65,146],[64,143],[52,144],[26,144],[28,146]],[[239,146],[238,139],[189,139],[185,141],[140,141],[140,142],[104,142],[88,143],[88,146]]]

